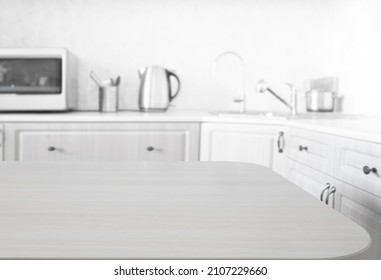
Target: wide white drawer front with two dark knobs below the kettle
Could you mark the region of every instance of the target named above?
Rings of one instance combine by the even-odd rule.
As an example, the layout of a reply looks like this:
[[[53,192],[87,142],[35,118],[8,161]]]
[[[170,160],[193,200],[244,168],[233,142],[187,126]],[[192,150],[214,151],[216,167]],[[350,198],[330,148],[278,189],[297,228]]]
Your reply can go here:
[[[9,123],[5,159],[198,160],[197,123]]]

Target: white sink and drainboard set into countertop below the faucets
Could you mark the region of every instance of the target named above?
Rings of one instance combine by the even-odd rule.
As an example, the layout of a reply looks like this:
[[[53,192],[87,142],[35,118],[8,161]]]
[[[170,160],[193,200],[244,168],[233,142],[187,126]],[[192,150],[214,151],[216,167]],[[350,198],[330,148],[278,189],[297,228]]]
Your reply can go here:
[[[283,119],[283,120],[336,120],[336,119],[362,119],[366,118],[364,115],[344,114],[339,112],[320,113],[320,112],[306,112],[298,113],[294,116],[287,112],[264,112],[264,111],[246,111],[240,113],[237,111],[219,111],[212,112],[219,117],[238,117],[238,118],[260,118],[260,119]]]

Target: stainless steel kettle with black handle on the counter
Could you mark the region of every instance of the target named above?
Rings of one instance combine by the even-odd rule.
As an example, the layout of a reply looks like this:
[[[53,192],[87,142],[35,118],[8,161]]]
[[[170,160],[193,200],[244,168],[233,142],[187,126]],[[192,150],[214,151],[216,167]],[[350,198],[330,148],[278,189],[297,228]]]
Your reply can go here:
[[[170,77],[177,80],[177,91],[173,94]],[[179,77],[160,66],[139,69],[139,108],[141,111],[166,111],[169,103],[180,91]]]

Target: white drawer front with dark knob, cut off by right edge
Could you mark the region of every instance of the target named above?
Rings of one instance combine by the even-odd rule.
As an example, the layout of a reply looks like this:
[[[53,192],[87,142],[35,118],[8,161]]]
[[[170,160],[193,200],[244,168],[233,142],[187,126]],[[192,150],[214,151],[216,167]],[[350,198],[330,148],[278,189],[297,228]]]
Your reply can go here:
[[[335,146],[335,177],[381,197],[381,144],[337,138]]]

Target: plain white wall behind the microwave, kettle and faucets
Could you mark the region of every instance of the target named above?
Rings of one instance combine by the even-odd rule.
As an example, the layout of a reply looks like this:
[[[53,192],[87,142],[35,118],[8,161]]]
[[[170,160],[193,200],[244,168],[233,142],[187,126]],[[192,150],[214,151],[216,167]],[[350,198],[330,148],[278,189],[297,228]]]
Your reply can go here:
[[[97,106],[91,69],[120,74],[122,107],[137,108],[137,69],[154,64],[181,77],[176,109],[236,108],[237,61],[223,58],[211,75],[215,57],[232,50],[245,59],[249,109],[283,109],[254,92],[261,78],[287,95],[280,81],[302,90],[305,79],[339,75],[347,111],[375,113],[381,9],[368,1],[0,0],[0,47],[68,48],[79,62],[79,109]]]

